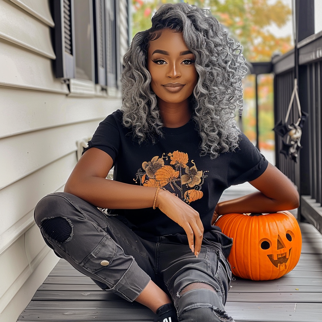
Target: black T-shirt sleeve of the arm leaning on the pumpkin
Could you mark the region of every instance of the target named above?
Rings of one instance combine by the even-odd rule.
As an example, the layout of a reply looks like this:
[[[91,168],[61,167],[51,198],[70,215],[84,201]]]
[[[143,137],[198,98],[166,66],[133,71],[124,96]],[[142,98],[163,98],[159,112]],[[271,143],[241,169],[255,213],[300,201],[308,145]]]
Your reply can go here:
[[[258,178],[267,168],[268,161],[242,133],[238,148],[232,152],[228,167],[228,185],[239,185]]]

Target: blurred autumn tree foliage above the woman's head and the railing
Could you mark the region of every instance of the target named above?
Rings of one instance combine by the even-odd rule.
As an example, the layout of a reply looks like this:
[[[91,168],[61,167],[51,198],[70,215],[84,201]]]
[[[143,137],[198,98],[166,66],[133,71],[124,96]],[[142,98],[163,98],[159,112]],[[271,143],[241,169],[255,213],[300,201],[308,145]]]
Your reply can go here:
[[[132,0],[133,36],[151,26],[151,17],[165,3],[181,0]],[[291,36],[276,37],[267,27],[284,26],[291,18],[291,8],[281,0],[194,0],[185,1],[210,9],[213,16],[228,28],[230,37],[243,46],[250,62],[270,61],[274,52],[284,54],[292,48]]]

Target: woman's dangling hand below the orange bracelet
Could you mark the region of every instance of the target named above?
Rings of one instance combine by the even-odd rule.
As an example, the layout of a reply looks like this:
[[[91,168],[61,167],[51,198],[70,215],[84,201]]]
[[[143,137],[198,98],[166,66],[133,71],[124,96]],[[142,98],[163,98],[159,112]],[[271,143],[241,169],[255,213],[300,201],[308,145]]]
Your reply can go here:
[[[170,191],[162,189],[157,196],[156,207],[185,230],[189,247],[198,257],[204,235],[199,213]]]

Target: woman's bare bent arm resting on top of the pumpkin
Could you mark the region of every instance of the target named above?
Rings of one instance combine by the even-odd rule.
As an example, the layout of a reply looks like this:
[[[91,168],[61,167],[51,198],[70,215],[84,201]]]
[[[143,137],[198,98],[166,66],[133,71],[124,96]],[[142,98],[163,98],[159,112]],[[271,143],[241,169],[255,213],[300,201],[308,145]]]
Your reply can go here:
[[[259,192],[218,203],[212,223],[216,220],[216,213],[218,216],[226,213],[274,213],[299,206],[299,195],[293,183],[270,163],[263,174],[249,183]]]

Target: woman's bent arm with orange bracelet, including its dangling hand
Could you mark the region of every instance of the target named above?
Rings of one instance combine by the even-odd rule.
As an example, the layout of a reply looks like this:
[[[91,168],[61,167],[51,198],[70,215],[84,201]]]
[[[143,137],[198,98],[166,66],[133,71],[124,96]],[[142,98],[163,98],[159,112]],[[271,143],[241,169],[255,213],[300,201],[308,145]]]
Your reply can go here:
[[[152,207],[156,188],[107,180],[106,176],[112,165],[113,160],[106,152],[95,147],[88,149],[72,171],[64,192],[74,194],[100,208]],[[185,230],[190,248],[197,255],[204,231],[199,213],[174,194],[162,189],[159,191],[156,207]]]

